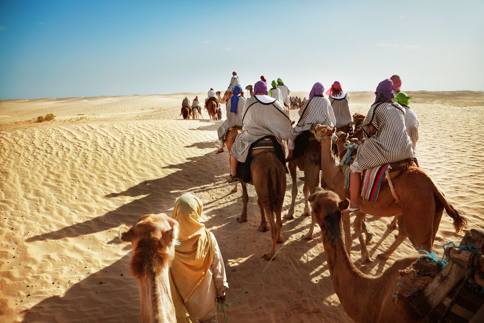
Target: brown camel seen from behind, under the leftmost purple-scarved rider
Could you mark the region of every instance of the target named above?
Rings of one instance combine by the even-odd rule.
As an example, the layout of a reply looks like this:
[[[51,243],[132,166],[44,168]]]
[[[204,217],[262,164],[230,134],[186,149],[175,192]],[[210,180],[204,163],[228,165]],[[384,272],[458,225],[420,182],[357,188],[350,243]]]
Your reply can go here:
[[[264,259],[269,261],[276,253],[276,243],[282,243],[282,204],[286,192],[286,172],[281,161],[272,152],[262,152],[255,155],[250,164],[252,180],[249,183],[242,184],[242,215],[237,217],[237,222],[247,222],[247,203],[249,194],[247,193],[247,184],[252,184],[257,193],[257,205],[261,211],[261,225],[259,231],[267,231],[267,222],[269,220],[272,248],[269,254],[264,254]],[[275,218],[275,219],[274,219]]]

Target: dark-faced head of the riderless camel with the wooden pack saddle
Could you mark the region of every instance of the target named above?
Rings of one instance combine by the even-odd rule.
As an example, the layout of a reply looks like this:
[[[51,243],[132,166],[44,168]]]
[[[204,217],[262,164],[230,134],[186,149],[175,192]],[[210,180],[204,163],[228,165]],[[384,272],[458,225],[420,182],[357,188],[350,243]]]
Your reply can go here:
[[[341,211],[349,207],[349,200],[340,200],[338,194],[318,186],[309,197],[309,202],[312,214],[321,230],[326,229],[326,234],[335,233],[329,227],[334,228],[335,225],[339,227]]]

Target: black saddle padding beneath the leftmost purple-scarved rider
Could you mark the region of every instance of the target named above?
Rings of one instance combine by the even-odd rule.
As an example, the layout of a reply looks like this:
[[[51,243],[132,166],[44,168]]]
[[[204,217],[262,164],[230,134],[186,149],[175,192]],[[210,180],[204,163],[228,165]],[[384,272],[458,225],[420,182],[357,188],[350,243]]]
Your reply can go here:
[[[249,154],[245,163],[238,163],[237,165],[237,177],[244,183],[250,183],[252,181],[252,173],[250,171],[250,164],[252,159],[262,152],[272,152],[276,155],[282,165],[286,165],[284,158],[284,152],[282,146],[274,136],[266,136],[261,138],[250,145]]]

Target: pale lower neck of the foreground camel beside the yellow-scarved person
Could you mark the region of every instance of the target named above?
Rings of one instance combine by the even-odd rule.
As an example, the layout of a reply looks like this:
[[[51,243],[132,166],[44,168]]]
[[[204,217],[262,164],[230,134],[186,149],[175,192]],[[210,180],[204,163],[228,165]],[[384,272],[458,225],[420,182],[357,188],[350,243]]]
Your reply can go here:
[[[161,271],[150,268],[146,276],[138,279],[143,323],[176,322],[168,269],[169,263],[166,261]]]

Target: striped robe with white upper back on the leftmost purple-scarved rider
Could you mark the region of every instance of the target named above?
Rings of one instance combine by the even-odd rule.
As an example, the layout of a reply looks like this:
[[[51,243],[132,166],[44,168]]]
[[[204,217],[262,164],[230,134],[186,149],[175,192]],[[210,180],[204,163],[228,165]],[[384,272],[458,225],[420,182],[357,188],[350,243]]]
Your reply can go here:
[[[289,138],[291,120],[281,104],[275,100],[263,103],[254,95],[245,102],[242,111],[242,132],[235,137],[231,154],[245,162],[250,145],[265,136],[274,136],[279,144]]]

